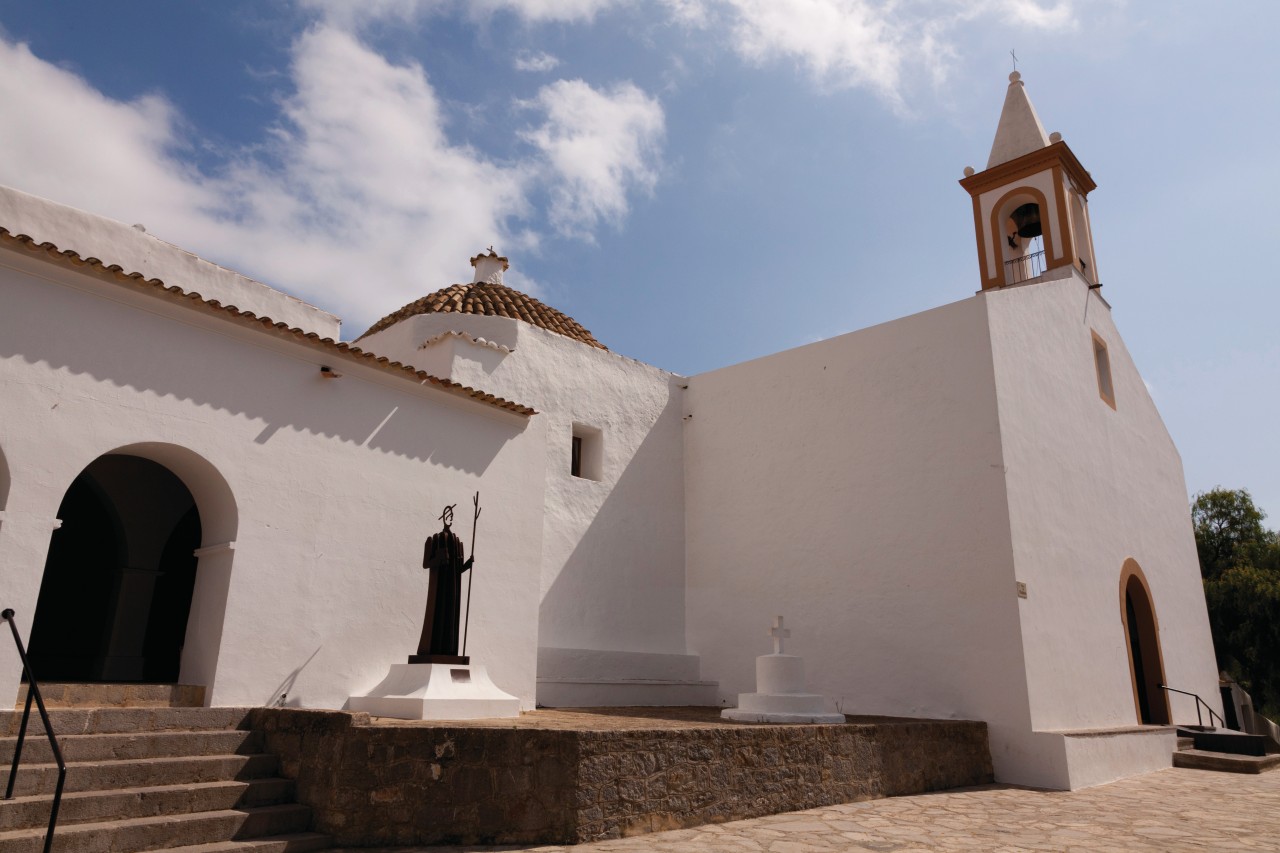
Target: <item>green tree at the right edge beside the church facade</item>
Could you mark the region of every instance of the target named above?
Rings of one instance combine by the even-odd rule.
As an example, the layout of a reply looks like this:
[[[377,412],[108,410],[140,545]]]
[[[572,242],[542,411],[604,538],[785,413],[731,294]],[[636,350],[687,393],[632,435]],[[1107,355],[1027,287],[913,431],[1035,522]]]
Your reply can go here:
[[[1280,715],[1280,538],[1247,489],[1197,494],[1192,524],[1219,669]]]

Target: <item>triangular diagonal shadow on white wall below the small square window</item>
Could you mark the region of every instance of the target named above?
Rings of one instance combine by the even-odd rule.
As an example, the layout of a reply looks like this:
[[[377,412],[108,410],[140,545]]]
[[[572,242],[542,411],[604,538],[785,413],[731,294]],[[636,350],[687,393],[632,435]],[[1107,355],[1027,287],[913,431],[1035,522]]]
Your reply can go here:
[[[672,394],[594,515],[590,506],[605,483],[548,471],[549,500],[589,517],[543,594],[540,646],[685,651],[681,429],[681,398]],[[548,530],[544,552],[557,538],[577,535],[563,514],[558,517],[564,533]]]

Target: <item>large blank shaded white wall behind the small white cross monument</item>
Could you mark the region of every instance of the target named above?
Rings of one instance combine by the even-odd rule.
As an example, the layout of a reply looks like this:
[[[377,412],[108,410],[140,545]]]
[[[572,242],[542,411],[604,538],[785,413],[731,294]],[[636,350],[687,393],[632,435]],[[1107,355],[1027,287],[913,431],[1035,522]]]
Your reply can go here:
[[[986,720],[998,777],[1057,772],[1030,734],[980,297],[692,377],[687,412],[690,648],[726,702],[781,613],[844,712]]]

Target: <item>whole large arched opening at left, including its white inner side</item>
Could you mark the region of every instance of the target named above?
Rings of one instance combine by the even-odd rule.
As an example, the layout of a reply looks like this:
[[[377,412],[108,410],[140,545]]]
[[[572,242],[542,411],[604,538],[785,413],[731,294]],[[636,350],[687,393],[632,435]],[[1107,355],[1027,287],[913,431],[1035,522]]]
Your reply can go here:
[[[58,517],[31,630],[36,676],[209,685],[237,524],[218,471],[180,447],[122,447],[81,471]]]

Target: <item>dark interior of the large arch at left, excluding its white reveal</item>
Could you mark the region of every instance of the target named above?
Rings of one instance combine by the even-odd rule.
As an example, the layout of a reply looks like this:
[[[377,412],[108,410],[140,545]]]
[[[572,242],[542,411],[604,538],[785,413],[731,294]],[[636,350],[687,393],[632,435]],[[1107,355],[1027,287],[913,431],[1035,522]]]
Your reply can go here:
[[[166,466],[93,460],[67,489],[31,629],[49,681],[177,681],[201,547],[200,510]]]

